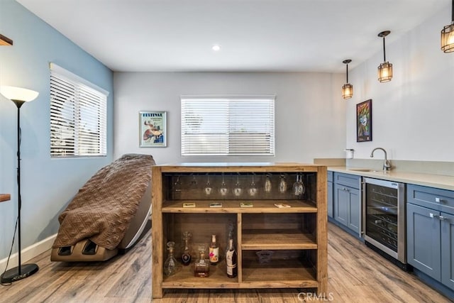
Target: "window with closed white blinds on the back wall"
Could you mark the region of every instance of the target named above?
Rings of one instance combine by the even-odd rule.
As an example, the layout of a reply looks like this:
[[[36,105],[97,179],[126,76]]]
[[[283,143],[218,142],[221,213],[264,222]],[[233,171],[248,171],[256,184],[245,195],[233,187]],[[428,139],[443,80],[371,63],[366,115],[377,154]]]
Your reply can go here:
[[[182,155],[275,155],[275,96],[181,97]]]

